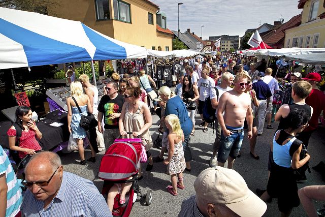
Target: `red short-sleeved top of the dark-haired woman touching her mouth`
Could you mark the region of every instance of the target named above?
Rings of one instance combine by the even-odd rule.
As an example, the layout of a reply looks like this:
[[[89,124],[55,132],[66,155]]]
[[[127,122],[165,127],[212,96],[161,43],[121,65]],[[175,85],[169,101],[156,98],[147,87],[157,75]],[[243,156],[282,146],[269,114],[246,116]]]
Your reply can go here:
[[[7,132],[8,136],[16,136],[16,130],[9,129]],[[23,131],[20,137],[19,147],[29,148],[35,151],[41,150],[39,142],[36,140],[36,133],[33,130]],[[25,151],[19,151],[19,158],[23,159],[27,155]]]

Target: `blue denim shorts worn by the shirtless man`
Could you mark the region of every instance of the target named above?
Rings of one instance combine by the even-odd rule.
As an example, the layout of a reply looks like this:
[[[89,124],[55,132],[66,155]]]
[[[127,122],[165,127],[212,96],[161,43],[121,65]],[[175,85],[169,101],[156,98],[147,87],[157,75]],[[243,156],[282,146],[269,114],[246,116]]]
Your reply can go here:
[[[236,159],[240,147],[242,146],[243,138],[244,131],[242,131],[241,133],[233,132],[232,135],[225,137],[221,130],[221,140],[217,161],[220,163],[225,163],[229,156],[233,159]]]

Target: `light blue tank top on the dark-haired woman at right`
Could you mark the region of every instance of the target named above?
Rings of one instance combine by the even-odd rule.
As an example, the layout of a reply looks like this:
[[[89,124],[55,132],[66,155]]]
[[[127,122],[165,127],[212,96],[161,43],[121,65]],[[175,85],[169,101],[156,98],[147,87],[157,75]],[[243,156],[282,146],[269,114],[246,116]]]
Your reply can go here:
[[[297,139],[296,137],[292,138],[284,145],[279,145],[275,141],[275,136],[279,131],[277,131],[273,137],[273,160],[274,163],[281,167],[291,167],[293,158],[290,156],[290,147],[293,142]]]

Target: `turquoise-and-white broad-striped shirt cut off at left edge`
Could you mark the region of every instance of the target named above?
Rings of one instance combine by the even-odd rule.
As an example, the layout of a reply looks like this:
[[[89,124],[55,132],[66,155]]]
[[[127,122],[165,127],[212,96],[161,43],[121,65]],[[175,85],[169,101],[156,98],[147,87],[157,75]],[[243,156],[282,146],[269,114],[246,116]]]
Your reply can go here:
[[[19,212],[22,202],[21,188],[6,152],[0,146],[0,175],[4,173],[8,186],[6,217],[15,216]]]

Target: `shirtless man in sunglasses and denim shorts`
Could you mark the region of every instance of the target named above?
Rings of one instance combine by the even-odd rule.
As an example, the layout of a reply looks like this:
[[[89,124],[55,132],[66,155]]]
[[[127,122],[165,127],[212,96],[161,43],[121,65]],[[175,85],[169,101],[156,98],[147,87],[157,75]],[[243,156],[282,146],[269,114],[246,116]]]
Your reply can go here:
[[[251,99],[245,94],[247,75],[238,73],[234,79],[234,89],[225,92],[220,100],[217,118],[221,126],[221,144],[218,151],[218,166],[223,167],[228,158],[228,168],[233,169],[244,138],[244,120],[248,124],[248,139],[252,138],[253,114]],[[222,116],[222,113],[224,115]]]

